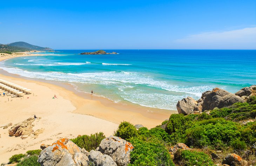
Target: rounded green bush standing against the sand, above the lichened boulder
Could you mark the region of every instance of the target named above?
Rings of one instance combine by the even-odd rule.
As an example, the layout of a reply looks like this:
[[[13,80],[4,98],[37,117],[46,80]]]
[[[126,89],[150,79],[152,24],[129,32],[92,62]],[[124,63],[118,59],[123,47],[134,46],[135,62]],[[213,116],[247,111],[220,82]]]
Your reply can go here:
[[[137,129],[130,122],[123,121],[120,123],[114,135],[127,140],[137,136],[138,134]]]

